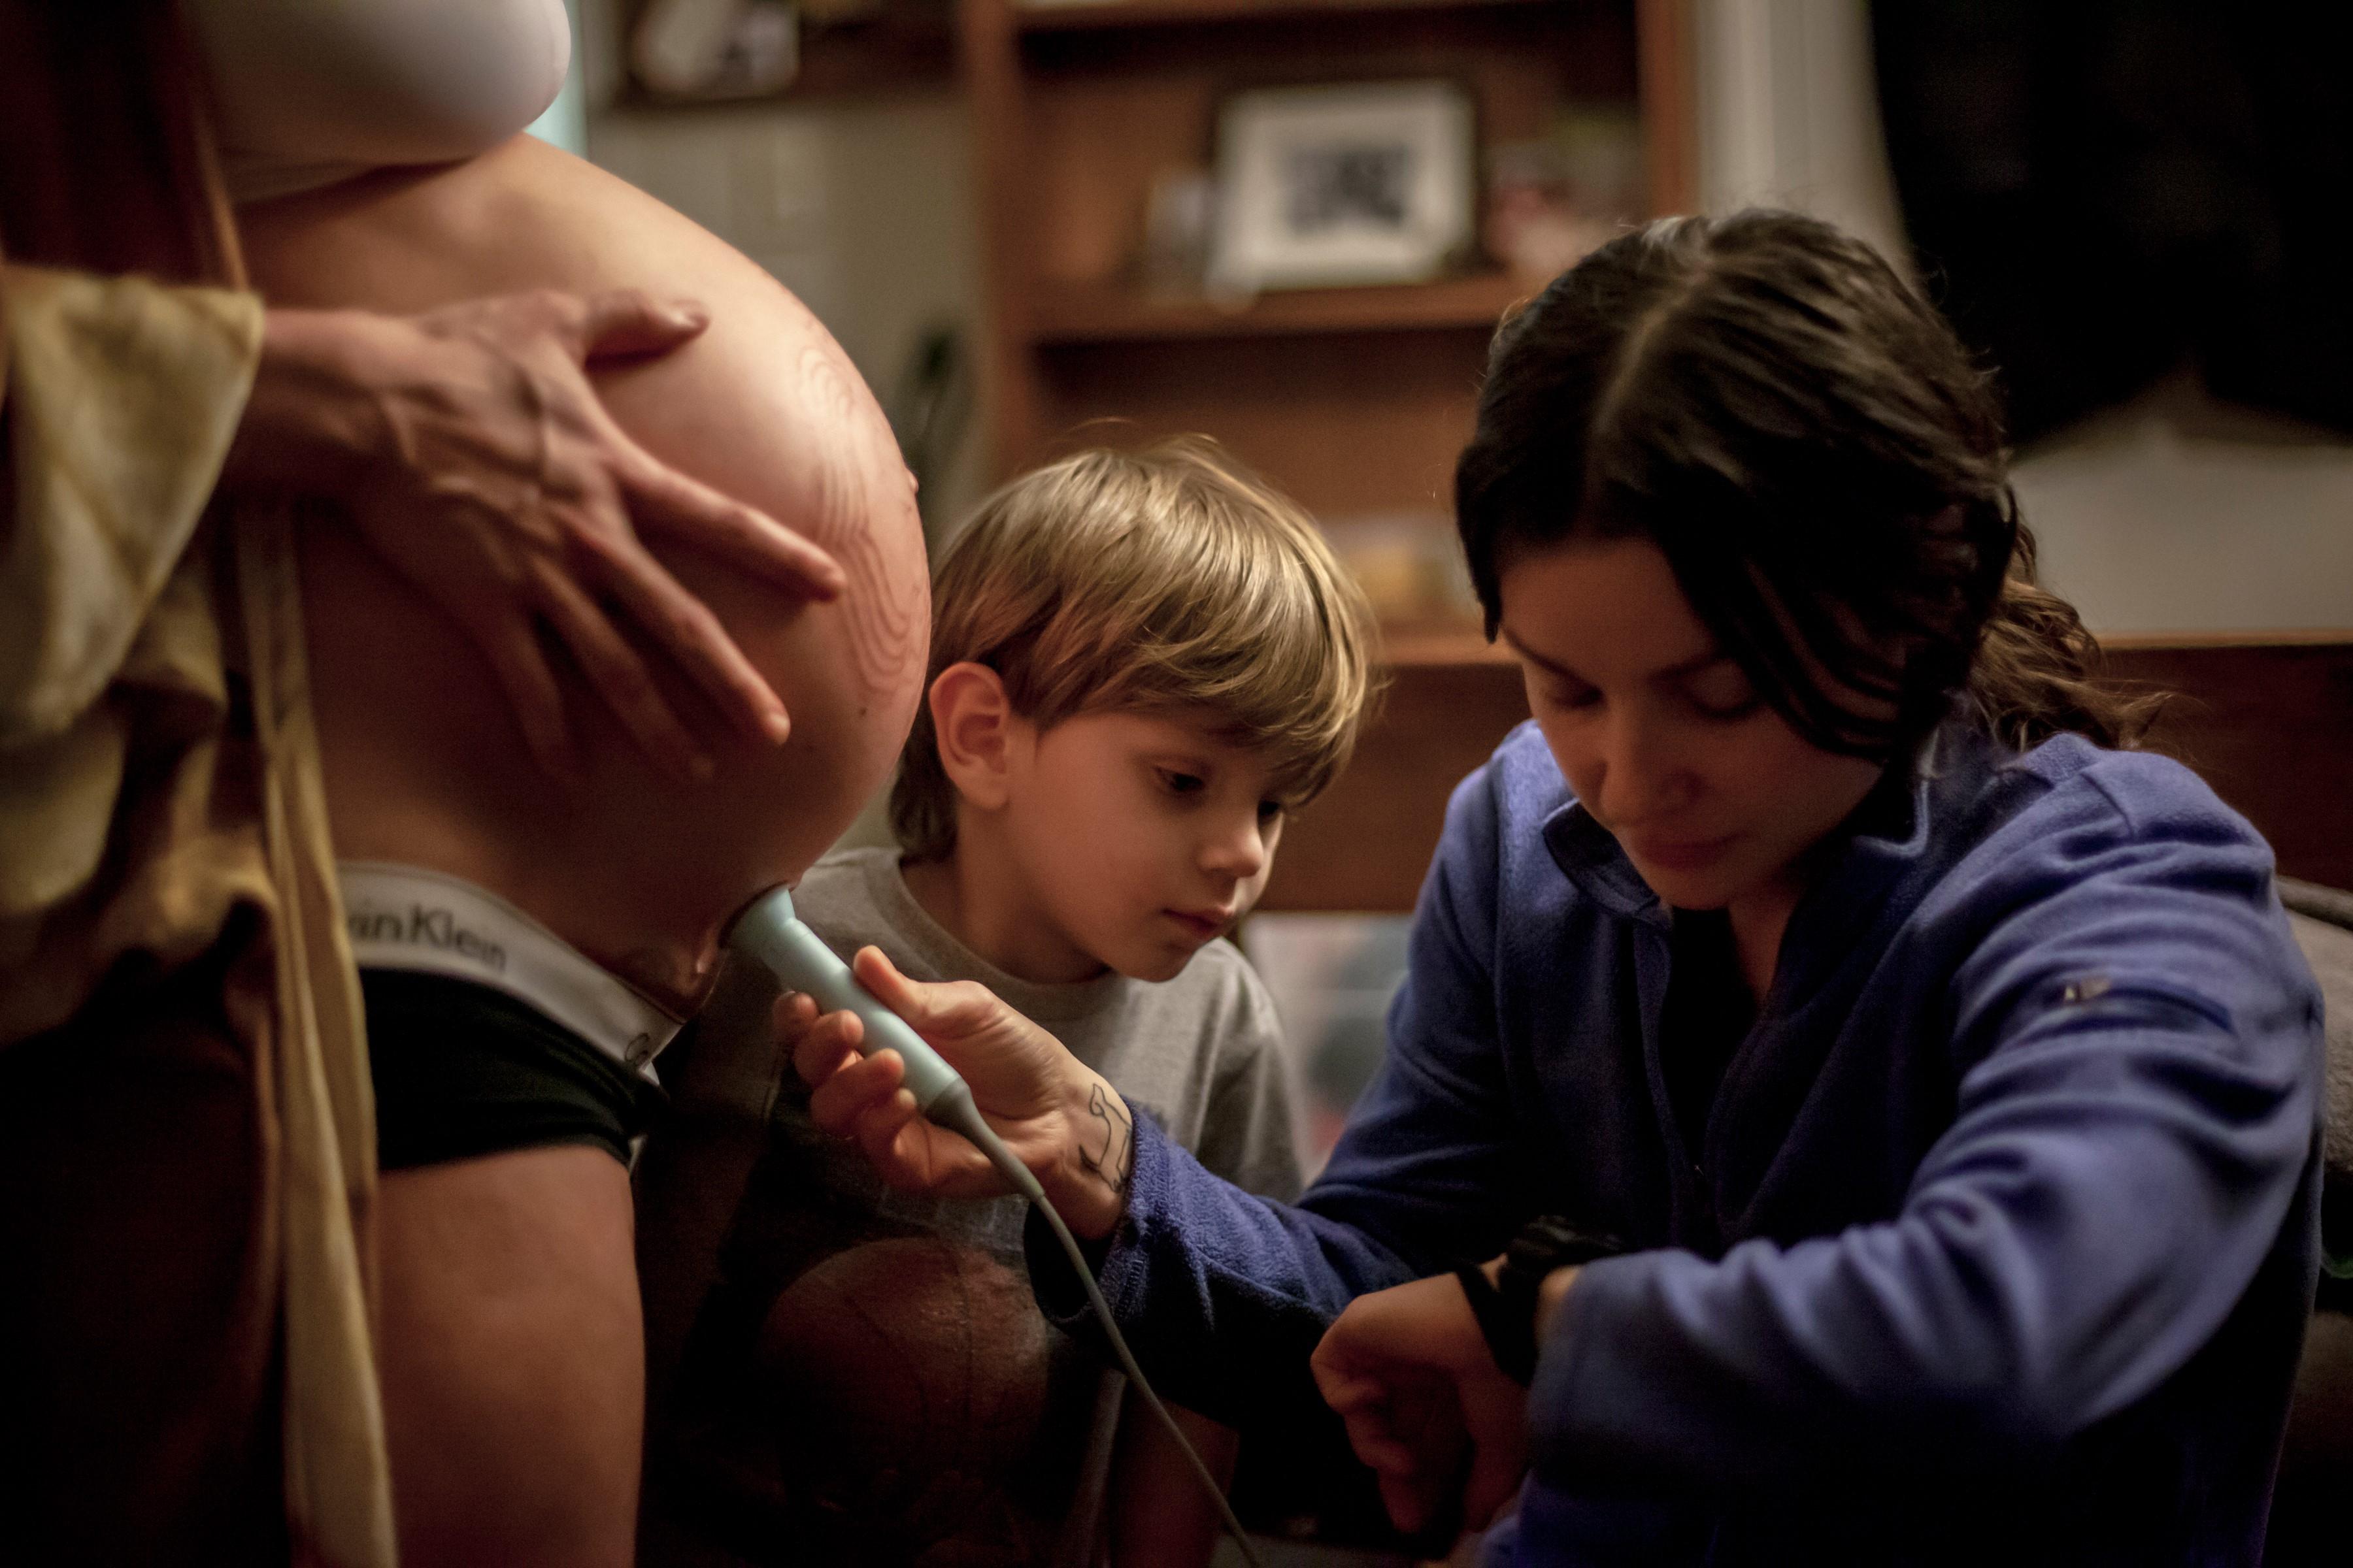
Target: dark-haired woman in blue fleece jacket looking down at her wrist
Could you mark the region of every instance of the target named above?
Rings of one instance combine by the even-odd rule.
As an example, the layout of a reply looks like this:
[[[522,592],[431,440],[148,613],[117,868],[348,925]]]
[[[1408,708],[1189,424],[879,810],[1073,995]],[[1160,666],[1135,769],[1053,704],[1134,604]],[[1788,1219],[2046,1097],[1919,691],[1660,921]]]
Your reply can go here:
[[[1146,1371],[1247,1427],[1313,1349],[1400,1523],[1520,1488],[1489,1561],[2259,1561],[2318,999],[2271,851],[2033,588],[1951,329],[1824,223],[1654,223],[1499,334],[1457,510],[1534,724],[1297,1208],[1141,1117],[1106,1173],[1085,1067],[861,959]],[[981,1180],[781,1025],[885,1173]]]

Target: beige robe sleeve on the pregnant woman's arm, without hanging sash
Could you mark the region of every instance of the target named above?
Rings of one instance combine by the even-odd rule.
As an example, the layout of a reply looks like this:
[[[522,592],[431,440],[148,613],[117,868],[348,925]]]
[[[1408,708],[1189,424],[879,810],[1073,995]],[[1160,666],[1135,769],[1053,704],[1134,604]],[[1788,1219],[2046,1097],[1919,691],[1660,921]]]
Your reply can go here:
[[[212,802],[228,677],[209,550],[191,541],[259,362],[261,301],[9,266],[0,308],[5,1044],[71,1018],[125,950],[193,959],[256,891],[259,846]],[[96,886],[118,835],[141,849]]]

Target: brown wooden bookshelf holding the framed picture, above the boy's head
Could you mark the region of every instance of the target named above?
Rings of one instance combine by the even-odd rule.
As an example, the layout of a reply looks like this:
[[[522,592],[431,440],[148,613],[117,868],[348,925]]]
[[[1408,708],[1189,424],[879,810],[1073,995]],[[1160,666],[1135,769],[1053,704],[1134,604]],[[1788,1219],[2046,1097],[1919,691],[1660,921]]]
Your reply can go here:
[[[984,233],[991,463],[1207,433],[1325,517],[1442,515],[1494,324],[1539,280],[1146,292],[1153,181],[1249,85],[1447,78],[1482,146],[1633,110],[1647,207],[1692,205],[1687,0],[958,0]]]

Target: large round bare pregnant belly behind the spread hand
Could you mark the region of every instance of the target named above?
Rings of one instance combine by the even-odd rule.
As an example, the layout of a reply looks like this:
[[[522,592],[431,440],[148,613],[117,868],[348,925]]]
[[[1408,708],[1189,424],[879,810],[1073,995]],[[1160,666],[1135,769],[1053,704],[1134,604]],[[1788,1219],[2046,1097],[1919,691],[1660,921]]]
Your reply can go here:
[[[906,470],[826,329],[706,230],[532,139],[435,174],[381,174],[247,209],[242,228],[271,303],[424,310],[539,287],[701,301],[713,317],[701,339],[598,376],[607,407],[656,458],[814,536],[849,571],[838,604],[807,604],[715,562],[666,555],[769,675],[795,741],[772,766],[732,757],[696,802],[696,823],[666,820],[680,816],[678,788],[638,771],[631,748],[598,745],[586,795],[551,823],[548,785],[511,743],[513,722],[471,649],[428,630],[431,611],[336,531],[308,531],[304,588],[339,849],[346,835],[358,853],[393,849],[372,842],[379,825],[407,837],[426,811],[459,818],[435,835],[471,835],[478,818],[494,818],[506,849],[482,851],[492,865],[447,870],[492,870],[492,886],[541,919],[541,905],[584,891],[567,875],[534,898],[548,872],[541,851],[579,839],[612,867],[598,891],[628,900],[666,900],[680,877],[729,875],[706,872],[711,860],[741,867],[732,875],[751,877],[744,893],[795,875],[840,830],[831,818],[854,813],[856,799],[840,797],[861,799],[896,755],[929,628]],[[593,722],[595,708],[581,703],[579,719]],[[452,757],[471,776],[452,778]],[[781,827],[786,809],[809,830]],[[614,842],[619,827],[654,842]],[[558,933],[600,961],[633,940],[605,933],[598,914],[553,914]]]

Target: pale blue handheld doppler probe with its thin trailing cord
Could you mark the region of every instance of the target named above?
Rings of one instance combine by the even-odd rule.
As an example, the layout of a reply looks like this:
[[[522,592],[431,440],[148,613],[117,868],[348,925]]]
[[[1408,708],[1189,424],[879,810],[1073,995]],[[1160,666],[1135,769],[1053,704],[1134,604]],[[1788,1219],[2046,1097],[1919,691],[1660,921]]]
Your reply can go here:
[[[786,990],[807,992],[816,999],[824,1013],[856,1013],[859,1023],[866,1025],[866,1034],[859,1041],[861,1056],[873,1056],[875,1051],[896,1051],[899,1060],[906,1063],[906,1088],[915,1095],[915,1105],[922,1114],[939,1126],[962,1133],[969,1138],[988,1164],[1012,1182],[1014,1192],[1026,1197],[1045,1222],[1054,1229],[1054,1239],[1061,1241],[1061,1251],[1068,1253],[1071,1267],[1078,1272],[1078,1284],[1087,1288],[1087,1305],[1094,1307],[1096,1321],[1104,1326],[1104,1335],[1111,1340],[1113,1354],[1120,1359],[1120,1368],[1127,1380],[1136,1385],[1144,1394],[1144,1403],[1153,1408],[1167,1434],[1176,1439],[1176,1448],[1184,1453],[1193,1474],[1200,1483],[1209,1488],[1209,1497],[1217,1500],[1217,1512],[1226,1519],[1226,1530],[1233,1542],[1242,1549],[1242,1559],[1252,1568],[1264,1568],[1259,1554],[1249,1547],[1249,1535],[1242,1530],[1242,1521],[1233,1516],[1233,1505],[1226,1502],[1226,1488],[1217,1483],[1209,1467],[1200,1462],[1193,1453],[1193,1443],[1186,1441],[1184,1429],[1176,1427],[1176,1418],[1169,1415],[1167,1406],[1160,1403],[1160,1394],[1153,1394],[1153,1385],[1144,1380],[1144,1368],[1136,1366],[1134,1354],[1127,1349],[1127,1340],[1120,1335],[1120,1326],[1111,1321],[1111,1305],[1104,1300],[1101,1288],[1094,1284],[1094,1269],[1087,1267],[1087,1255],[1078,1251],[1078,1237],[1071,1227],[1061,1222],[1054,1213],[1054,1204],[1047,1201],[1045,1187],[1031,1175],[1028,1166],[1014,1159],[1014,1152],[988,1128],[981,1119],[979,1107],[972,1103],[972,1088],[965,1079],[955,1074],[939,1051],[927,1046],[915,1030],[906,1025],[899,1013],[882,1006],[880,997],[859,985],[859,978],[849,973],[849,964],[842,964],[826,943],[809,931],[809,926],[793,914],[793,893],[788,889],[772,889],[755,898],[744,914],[736,917],[734,929],[727,933],[727,945],[736,952],[758,959],[776,983]]]

